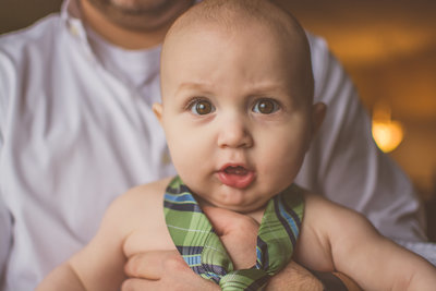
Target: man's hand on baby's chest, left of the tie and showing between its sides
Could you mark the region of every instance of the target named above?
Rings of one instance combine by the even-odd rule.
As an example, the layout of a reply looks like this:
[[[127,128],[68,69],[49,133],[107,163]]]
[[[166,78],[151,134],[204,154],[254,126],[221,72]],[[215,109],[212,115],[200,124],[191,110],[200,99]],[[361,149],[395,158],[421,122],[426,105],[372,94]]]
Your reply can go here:
[[[225,244],[237,268],[256,262],[258,223],[249,216],[216,207],[204,207],[206,216]],[[213,281],[196,275],[177,251],[154,251],[134,255],[124,267],[122,291],[220,290]]]

